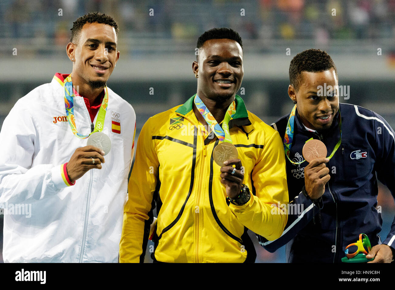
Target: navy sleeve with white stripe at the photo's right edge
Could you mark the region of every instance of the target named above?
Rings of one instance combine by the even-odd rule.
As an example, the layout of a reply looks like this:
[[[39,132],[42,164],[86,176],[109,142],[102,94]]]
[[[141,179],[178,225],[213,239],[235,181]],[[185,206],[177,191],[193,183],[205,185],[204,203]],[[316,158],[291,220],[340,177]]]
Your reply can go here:
[[[388,187],[395,199],[395,133],[382,116],[374,113],[374,121],[377,178]],[[395,218],[391,225],[391,231],[383,244],[395,249]]]

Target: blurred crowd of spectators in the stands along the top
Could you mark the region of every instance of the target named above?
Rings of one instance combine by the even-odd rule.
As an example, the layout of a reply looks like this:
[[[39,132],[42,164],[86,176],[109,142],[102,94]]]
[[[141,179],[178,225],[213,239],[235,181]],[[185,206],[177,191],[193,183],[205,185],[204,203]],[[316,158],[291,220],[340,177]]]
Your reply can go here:
[[[323,44],[395,36],[395,0],[2,0],[0,38],[55,39],[64,45],[72,22],[86,11],[115,17],[123,37],[196,39],[214,26],[232,27],[243,39]]]

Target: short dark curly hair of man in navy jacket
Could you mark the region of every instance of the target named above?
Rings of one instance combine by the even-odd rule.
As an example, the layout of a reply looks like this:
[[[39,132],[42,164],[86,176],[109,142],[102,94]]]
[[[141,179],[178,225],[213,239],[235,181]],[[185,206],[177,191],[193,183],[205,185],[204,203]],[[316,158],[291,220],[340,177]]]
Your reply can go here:
[[[291,60],[290,84],[297,92],[301,82],[302,71],[318,73],[320,71],[327,71],[332,67],[335,69],[336,79],[339,79],[335,63],[325,51],[308,49],[307,51],[300,52]]]

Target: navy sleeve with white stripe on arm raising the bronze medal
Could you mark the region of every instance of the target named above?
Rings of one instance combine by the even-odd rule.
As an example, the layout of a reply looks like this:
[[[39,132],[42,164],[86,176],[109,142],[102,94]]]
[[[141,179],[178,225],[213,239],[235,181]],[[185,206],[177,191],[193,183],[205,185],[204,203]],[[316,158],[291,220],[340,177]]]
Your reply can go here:
[[[318,211],[319,208],[309,198],[303,195],[302,192],[299,193],[288,205],[288,221],[280,238],[268,241],[262,236],[257,235],[260,245],[271,253],[275,252],[293,239],[300,230],[310,223],[314,214],[318,213]]]

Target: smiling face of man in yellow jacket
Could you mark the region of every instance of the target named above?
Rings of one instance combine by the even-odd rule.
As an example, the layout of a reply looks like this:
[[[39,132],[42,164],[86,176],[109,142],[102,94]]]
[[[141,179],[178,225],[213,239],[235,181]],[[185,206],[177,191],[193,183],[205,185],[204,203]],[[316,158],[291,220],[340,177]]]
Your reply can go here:
[[[210,39],[192,65],[198,75],[198,95],[224,103],[233,99],[243,80],[243,51],[237,41]]]

